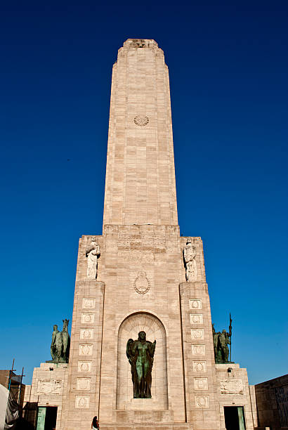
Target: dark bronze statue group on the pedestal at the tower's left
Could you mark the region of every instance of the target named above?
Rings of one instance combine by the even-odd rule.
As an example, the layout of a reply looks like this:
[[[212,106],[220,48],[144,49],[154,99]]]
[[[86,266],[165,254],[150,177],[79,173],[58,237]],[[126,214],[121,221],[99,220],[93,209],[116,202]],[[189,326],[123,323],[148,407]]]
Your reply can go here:
[[[70,335],[68,333],[69,320],[63,320],[63,331],[59,332],[58,325],[53,326],[51,357],[46,363],[68,363],[70,352]]]

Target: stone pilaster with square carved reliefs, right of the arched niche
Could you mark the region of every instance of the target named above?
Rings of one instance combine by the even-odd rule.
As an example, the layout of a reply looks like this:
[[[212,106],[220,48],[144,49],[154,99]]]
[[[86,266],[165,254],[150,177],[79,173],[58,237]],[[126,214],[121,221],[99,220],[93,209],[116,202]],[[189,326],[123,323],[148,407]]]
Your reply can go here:
[[[195,430],[220,429],[210,301],[206,282],[181,282],[185,400]]]

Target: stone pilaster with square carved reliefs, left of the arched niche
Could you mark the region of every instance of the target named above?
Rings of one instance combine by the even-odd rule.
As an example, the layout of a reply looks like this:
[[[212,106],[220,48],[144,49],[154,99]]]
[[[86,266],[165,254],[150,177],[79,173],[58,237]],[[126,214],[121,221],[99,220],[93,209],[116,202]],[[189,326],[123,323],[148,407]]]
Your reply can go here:
[[[105,283],[76,282],[63,430],[90,428],[98,415]]]

